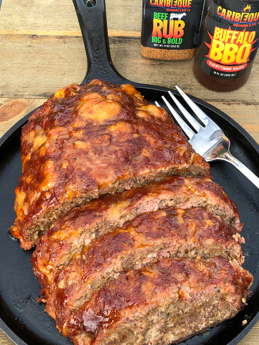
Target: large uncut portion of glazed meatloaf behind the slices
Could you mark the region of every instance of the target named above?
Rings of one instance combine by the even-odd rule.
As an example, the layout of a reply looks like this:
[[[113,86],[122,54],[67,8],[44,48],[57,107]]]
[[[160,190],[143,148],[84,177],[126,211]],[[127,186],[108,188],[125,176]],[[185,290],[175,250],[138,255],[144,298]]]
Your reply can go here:
[[[209,177],[165,110],[130,84],[93,80],[57,91],[22,129],[12,234],[29,249],[72,208],[167,175]]]

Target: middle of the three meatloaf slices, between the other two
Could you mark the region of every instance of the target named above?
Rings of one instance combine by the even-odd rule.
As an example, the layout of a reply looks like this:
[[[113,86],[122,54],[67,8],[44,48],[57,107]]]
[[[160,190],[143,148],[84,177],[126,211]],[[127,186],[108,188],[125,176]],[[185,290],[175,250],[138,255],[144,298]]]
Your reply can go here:
[[[208,259],[224,256],[243,263],[241,244],[219,216],[207,210],[158,210],[140,214],[123,228],[99,236],[59,267],[53,284],[47,285],[46,311],[58,324],[91,295],[122,271],[138,269],[163,257]],[[44,297],[46,298],[46,297]]]

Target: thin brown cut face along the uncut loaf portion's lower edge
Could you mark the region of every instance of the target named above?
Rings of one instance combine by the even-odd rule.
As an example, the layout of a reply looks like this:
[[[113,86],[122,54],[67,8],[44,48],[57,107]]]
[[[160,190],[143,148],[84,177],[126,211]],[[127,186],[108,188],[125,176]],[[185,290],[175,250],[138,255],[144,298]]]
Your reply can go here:
[[[117,181],[112,185],[106,186],[100,190],[93,191],[90,195],[76,197],[71,201],[65,201],[61,206],[55,208],[54,210],[36,217],[29,229],[21,230],[21,236],[23,239],[22,246],[25,247],[25,249],[30,249],[32,246],[37,245],[40,238],[46,233],[48,229],[52,227],[52,225],[58,218],[63,217],[74,207],[83,205],[93,198],[100,197],[101,195],[104,195],[106,193],[114,194],[117,192],[122,192],[124,190],[129,190],[133,187],[149,184],[152,181],[161,181],[163,178],[170,175],[179,174],[182,176],[203,176],[205,172],[206,171],[204,171],[200,166],[196,165],[190,166],[189,168],[182,169],[180,171],[176,168],[171,168],[168,171],[160,171],[159,173],[151,174],[148,177],[145,176],[131,178],[125,181]]]

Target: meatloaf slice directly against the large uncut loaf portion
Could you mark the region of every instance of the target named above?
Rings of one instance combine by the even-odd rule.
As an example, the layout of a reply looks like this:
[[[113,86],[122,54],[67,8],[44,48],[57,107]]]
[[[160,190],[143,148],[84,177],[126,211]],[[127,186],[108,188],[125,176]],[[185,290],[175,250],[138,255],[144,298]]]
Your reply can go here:
[[[75,208],[41,238],[32,262],[41,284],[51,284],[60,265],[87,246],[92,238],[121,227],[145,212],[167,207],[202,207],[220,215],[236,236],[242,229],[237,207],[210,179],[171,176],[160,182],[106,195]],[[237,233],[237,234],[236,234]]]

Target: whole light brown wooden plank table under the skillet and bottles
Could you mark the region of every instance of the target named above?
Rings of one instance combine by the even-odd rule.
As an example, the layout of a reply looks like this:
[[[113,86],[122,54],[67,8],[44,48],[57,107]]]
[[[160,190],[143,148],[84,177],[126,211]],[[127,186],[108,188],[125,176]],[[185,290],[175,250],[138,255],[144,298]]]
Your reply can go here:
[[[1,1],[0,1],[1,3]],[[229,93],[209,91],[193,61],[158,61],[140,54],[140,0],[106,0],[111,56],[122,76],[183,90],[224,111],[259,143],[259,54],[249,81]],[[86,53],[72,0],[2,0],[0,9],[0,136],[59,88],[80,83]],[[14,344],[0,331],[0,345]],[[259,322],[239,345],[259,344]]]

